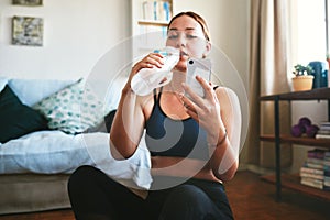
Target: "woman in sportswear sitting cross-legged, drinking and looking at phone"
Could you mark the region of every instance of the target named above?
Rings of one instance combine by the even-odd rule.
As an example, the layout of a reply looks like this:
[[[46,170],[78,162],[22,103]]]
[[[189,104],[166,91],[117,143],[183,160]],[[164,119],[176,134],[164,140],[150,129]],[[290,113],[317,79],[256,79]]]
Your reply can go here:
[[[205,58],[211,50],[201,16],[195,12],[174,16],[166,45],[180,51],[170,84],[136,96],[132,77],[142,68],[162,67],[164,59],[151,53],[136,63],[122,89],[110,132],[111,154],[124,160],[134,154],[146,130],[151,189],[138,195],[94,167],[80,167],[69,179],[77,219],[233,219],[222,182],[238,169],[238,98],[232,90],[215,87],[199,76],[196,80],[205,89],[204,97],[184,82],[188,58]]]

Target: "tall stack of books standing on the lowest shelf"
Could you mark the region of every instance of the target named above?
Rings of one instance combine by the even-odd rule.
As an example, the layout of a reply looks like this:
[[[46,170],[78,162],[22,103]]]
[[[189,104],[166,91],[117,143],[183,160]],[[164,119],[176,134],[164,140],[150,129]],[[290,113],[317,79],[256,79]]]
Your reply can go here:
[[[324,189],[324,150],[308,151],[307,160],[300,167],[300,183],[302,185]]]

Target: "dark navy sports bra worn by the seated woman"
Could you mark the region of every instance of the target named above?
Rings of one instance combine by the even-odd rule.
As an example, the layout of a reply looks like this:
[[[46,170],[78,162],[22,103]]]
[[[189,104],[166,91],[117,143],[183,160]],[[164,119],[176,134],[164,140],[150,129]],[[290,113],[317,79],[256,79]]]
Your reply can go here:
[[[146,146],[152,156],[208,160],[207,133],[193,119],[174,120],[161,108],[162,88],[154,90],[154,107],[146,121]]]

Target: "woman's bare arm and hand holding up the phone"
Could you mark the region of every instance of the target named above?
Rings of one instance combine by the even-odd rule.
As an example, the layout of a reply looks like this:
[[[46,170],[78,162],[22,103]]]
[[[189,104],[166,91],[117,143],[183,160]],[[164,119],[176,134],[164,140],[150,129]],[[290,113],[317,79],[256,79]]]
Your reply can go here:
[[[219,179],[231,179],[239,165],[241,109],[233,90],[219,87],[215,91],[212,86],[200,77],[197,80],[206,90],[204,98],[198,97],[189,87],[185,90],[191,100],[183,97],[183,101],[190,114],[208,133],[211,153],[211,169]]]

